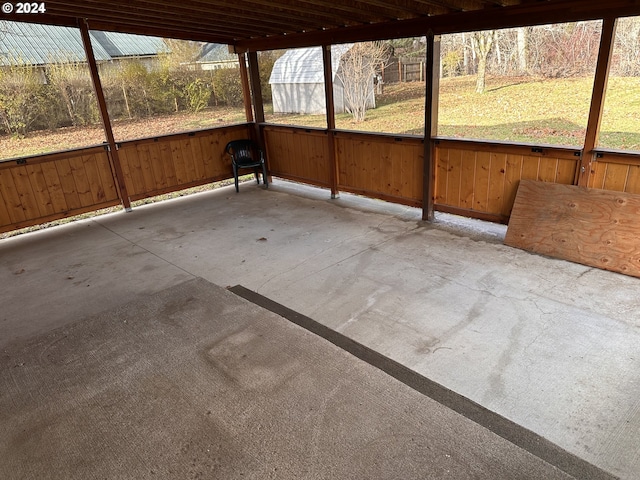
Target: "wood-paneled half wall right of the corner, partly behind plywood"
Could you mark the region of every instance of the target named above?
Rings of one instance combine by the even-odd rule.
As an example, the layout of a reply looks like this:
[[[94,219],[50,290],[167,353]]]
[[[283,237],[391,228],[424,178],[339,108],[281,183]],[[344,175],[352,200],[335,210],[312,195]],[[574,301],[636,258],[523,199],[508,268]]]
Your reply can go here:
[[[304,127],[263,128],[273,175],[421,207],[424,143],[418,137]],[[576,184],[581,150],[439,139],[434,148],[434,208],[442,212],[506,223],[520,180]],[[335,166],[332,166],[332,161]],[[599,153],[588,186],[640,193],[640,158]]]

